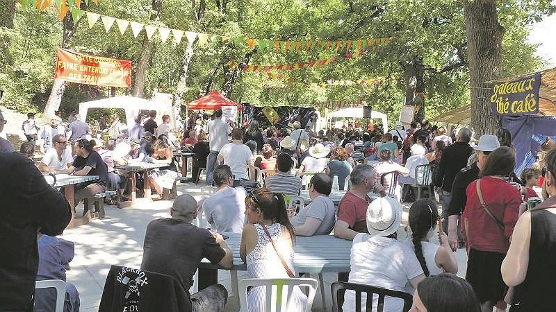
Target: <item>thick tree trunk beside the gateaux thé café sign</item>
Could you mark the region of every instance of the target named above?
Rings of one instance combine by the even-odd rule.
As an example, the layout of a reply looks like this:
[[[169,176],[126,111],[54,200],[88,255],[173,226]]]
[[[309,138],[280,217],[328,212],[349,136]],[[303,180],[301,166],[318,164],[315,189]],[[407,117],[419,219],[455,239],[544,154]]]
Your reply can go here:
[[[491,114],[489,89],[484,82],[502,74],[502,37],[495,0],[464,2],[471,85],[471,126],[477,137],[494,133],[501,119]]]

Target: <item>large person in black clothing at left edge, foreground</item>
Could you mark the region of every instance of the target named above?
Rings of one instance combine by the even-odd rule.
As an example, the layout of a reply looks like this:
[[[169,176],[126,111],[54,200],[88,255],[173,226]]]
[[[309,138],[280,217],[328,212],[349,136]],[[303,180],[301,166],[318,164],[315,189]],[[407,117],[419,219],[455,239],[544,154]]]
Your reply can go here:
[[[0,153],[0,311],[33,311],[37,232],[56,236],[72,211],[30,159]]]

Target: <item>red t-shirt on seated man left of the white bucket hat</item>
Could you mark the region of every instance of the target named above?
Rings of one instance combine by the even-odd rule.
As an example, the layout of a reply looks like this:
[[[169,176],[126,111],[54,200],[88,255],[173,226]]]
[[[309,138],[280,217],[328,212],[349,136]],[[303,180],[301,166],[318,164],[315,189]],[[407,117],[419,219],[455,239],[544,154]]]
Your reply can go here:
[[[347,191],[338,204],[338,220],[347,223],[355,232],[368,233],[367,207],[372,201],[368,196],[365,196],[363,200]]]

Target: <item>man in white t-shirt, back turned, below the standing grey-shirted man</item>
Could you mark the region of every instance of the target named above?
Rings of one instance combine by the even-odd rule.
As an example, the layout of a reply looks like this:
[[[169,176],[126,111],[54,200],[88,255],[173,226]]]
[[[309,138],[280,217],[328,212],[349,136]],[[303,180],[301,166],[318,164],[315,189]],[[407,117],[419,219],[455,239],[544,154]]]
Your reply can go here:
[[[254,180],[253,153],[249,147],[243,144],[241,129],[234,128],[231,130],[231,142],[222,146],[217,159],[218,162],[223,162],[231,168],[231,173],[236,176],[236,180]],[[250,168],[252,177],[247,175],[247,166]]]

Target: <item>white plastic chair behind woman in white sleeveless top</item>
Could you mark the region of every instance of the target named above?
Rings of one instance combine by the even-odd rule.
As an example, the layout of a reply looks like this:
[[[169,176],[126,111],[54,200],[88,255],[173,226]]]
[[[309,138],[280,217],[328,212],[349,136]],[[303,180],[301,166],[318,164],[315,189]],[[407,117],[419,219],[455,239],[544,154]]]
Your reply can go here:
[[[295,278],[295,279],[242,279],[239,281],[240,292],[240,311],[247,310],[247,287],[264,286],[266,291],[265,311],[286,312],[288,311],[289,299],[293,294],[294,286],[304,286],[309,288],[307,295],[307,305],[305,312],[311,311],[313,300],[315,299],[318,281],[316,279]],[[282,295],[286,294],[286,296]],[[273,309],[274,308],[274,309]]]

